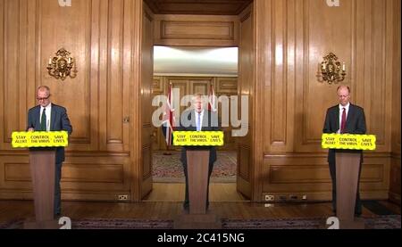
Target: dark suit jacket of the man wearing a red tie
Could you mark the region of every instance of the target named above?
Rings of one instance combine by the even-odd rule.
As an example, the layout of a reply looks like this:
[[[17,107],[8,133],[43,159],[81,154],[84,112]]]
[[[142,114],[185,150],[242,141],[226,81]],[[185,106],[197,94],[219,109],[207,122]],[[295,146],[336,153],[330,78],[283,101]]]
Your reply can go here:
[[[327,110],[325,117],[323,133],[336,133],[339,130],[339,104],[332,106]],[[365,134],[365,117],[364,110],[360,106],[350,103],[347,121],[344,133],[348,134]],[[344,150],[342,152],[361,152],[355,150]],[[328,152],[328,161],[335,163],[335,150],[330,149]],[[362,159],[363,161],[363,159]]]

